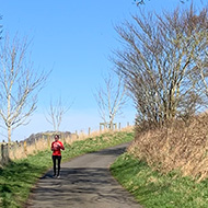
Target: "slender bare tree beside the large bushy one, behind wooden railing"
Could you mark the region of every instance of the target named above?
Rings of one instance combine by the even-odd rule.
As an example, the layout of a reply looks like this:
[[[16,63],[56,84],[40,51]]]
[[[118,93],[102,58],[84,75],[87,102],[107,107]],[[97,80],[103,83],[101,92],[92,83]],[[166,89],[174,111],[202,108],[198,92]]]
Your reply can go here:
[[[107,78],[104,78],[104,84],[105,88],[100,88],[94,96],[101,118],[105,124],[109,124],[112,129],[115,117],[122,114],[122,108],[127,102],[127,91],[120,76],[116,80],[108,74]]]

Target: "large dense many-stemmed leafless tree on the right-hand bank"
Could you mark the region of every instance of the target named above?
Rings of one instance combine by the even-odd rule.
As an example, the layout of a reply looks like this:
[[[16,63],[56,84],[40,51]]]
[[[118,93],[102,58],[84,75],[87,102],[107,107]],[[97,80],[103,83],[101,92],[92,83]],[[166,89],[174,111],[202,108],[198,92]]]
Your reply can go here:
[[[203,100],[193,72],[196,54],[207,51],[207,9],[198,12],[192,4],[185,11],[141,13],[132,20],[116,27],[124,50],[116,50],[113,61],[135,100],[137,122],[158,126],[190,116]]]

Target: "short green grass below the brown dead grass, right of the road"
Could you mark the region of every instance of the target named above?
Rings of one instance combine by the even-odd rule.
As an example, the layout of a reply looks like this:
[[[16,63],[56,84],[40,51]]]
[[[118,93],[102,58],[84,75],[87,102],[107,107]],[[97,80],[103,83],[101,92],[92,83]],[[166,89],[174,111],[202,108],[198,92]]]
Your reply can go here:
[[[111,171],[146,208],[208,207],[208,181],[196,183],[177,173],[162,175],[129,153],[120,155]]]

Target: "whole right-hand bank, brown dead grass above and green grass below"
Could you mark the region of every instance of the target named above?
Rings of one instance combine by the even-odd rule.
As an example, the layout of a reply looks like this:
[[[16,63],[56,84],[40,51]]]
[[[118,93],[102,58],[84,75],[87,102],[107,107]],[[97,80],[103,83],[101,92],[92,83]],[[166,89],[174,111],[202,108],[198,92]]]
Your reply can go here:
[[[208,114],[137,132],[112,174],[146,208],[208,207]]]

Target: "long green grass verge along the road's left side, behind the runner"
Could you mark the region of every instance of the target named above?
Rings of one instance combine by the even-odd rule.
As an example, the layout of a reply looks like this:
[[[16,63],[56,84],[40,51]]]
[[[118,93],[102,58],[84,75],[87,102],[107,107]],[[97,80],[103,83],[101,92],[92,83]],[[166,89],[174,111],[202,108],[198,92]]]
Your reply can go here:
[[[72,146],[66,145],[62,162],[80,154],[128,142],[132,138],[132,132],[115,132],[76,141]],[[0,169],[0,207],[23,207],[33,185],[50,166],[51,151],[46,150],[36,155],[28,155],[27,159],[13,161],[4,169]]]

